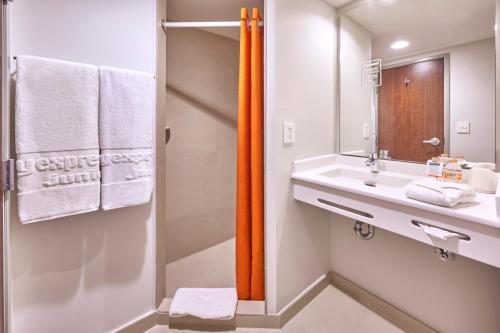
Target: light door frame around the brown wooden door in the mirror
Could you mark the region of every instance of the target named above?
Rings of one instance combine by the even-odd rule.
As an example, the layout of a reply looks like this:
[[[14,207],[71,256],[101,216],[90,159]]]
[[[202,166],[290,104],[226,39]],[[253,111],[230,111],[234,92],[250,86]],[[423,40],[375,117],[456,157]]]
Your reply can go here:
[[[407,65],[416,64],[419,62],[443,59],[444,60],[444,152],[450,154],[450,54],[444,53],[433,56],[416,55],[395,61],[389,61],[386,65],[382,64],[382,71],[389,68],[403,67]],[[376,119],[378,119],[378,90],[375,97],[376,105]],[[375,126],[377,133],[377,149],[378,149],[378,122]]]

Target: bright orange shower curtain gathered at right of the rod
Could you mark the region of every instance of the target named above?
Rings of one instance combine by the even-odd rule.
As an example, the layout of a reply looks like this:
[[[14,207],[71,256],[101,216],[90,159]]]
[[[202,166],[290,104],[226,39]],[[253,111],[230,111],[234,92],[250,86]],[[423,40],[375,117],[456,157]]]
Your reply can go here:
[[[236,286],[239,299],[264,300],[263,32],[258,8],[241,10],[236,189]]]

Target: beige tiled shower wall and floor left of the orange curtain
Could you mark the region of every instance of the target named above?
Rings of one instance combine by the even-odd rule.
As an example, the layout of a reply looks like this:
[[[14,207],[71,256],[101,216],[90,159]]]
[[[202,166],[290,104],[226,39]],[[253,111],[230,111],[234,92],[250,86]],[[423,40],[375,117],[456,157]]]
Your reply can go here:
[[[237,40],[167,31],[167,297],[234,285],[238,64]],[[214,262],[213,274],[196,274]]]

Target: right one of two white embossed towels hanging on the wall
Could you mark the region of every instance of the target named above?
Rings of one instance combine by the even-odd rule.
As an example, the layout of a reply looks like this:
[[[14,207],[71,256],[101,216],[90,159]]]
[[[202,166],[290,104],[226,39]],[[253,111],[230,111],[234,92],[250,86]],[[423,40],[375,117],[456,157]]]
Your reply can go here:
[[[99,139],[104,210],[149,202],[153,189],[154,77],[100,68]]]

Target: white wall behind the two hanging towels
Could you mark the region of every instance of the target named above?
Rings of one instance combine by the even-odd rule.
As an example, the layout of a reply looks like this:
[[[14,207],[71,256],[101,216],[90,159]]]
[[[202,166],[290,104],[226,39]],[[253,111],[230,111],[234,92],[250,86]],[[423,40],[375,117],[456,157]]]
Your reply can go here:
[[[16,0],[11,6],[13,55],[155,72],[155,0]],[[153,212],[148,204],[21,225],[14,203],[12,331],[102,333],[149,313]]]

